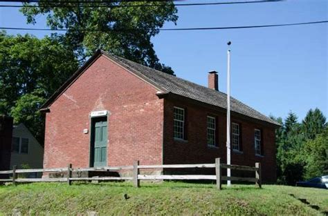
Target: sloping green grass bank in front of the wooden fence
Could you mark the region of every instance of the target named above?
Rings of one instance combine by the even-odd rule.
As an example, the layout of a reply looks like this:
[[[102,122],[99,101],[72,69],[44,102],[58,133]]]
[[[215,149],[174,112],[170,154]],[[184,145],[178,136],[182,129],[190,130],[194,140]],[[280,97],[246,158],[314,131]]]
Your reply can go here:
[[[219,191],[214,184],[180,182],[142,183],[140,188],[128,182],[0,186],[0,215],[14,210],[22,215],[87,215],[89,211],[100,215],[323,215],[328,212],[328,190],[235,185]]]

